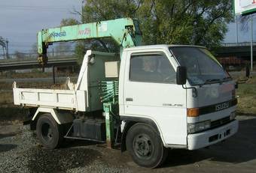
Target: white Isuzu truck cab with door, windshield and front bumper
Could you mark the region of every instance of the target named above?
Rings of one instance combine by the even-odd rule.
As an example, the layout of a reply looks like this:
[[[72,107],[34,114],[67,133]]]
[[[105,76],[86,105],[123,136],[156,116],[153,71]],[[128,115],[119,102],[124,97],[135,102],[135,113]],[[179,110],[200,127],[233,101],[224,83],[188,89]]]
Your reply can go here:
[[[122,57],[119,114],[122,132],[142,124],[126,142],[140,165],[154,148],[145,124],[165,148],[196,150],[237,132],[235,82],[205,47],[136,46]]]

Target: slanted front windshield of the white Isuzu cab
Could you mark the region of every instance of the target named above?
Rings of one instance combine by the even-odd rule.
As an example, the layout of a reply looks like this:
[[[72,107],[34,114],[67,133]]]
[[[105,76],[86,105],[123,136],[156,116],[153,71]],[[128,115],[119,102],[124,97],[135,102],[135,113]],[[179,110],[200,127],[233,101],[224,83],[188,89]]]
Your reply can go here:
[[[205,48],[170,47],[181,66],[187,67],[187,79],[191,85],[224,82],[230,79],[221,64]]]

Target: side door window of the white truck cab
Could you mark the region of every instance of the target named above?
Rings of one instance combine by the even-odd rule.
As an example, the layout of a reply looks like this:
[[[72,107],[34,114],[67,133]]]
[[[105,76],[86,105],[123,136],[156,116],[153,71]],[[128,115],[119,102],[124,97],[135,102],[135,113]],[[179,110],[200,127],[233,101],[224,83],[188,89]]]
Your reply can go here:
[[[162,53],[132,55],[130,81],[176,83],[176,73],[169,59]]]

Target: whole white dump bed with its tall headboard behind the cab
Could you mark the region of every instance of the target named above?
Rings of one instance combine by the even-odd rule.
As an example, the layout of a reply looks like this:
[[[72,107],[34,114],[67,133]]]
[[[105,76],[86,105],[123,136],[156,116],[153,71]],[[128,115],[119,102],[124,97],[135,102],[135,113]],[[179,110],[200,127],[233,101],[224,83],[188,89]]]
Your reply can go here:
[[[18,88],[14,82],[14,104],[53,109],[92,112],[102,109],[99,82],[106,80],[105,62],[117,61],[114,53],[88,50],[78,76],[73,84],[68,80],[68,90]]]

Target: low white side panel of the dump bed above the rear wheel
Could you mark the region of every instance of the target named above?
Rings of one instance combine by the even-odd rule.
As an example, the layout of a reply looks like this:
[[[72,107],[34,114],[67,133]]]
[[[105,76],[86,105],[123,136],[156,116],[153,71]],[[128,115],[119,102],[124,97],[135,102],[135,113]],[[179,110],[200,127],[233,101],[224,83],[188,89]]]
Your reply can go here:
[[[16,86],[13,90],[15,105],[86,111],[86,91],[17,88]]]

